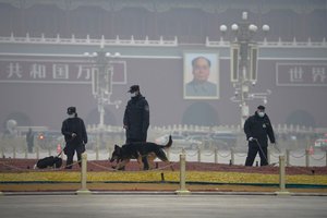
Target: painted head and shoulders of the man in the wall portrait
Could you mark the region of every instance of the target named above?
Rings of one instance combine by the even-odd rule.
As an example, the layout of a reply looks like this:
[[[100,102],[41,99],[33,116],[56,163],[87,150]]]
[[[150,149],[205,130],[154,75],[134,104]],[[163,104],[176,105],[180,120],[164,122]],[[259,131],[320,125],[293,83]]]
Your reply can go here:
[[[205,57],[192,60],[193,80],[185,85],[185,95],[195,97],[217,96],[217,85],[208,81],[211,62]]]

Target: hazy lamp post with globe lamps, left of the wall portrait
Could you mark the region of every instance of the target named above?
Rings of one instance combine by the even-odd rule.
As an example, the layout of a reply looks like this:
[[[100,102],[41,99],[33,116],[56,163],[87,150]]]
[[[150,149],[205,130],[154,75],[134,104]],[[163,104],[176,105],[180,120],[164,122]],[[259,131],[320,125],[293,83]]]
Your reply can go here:
[[[121,100],[111,101],[112,94],[112,74],[113,65],[111,59],[120,57],[119,52],[111,55],[102,49],[97,52],[85,52],[85,57],[89,58],[92,63],[92,93],[97,99],[98,111],[100,114],[99,128],[105,126],[105,105],[114,105],[119,108]]]

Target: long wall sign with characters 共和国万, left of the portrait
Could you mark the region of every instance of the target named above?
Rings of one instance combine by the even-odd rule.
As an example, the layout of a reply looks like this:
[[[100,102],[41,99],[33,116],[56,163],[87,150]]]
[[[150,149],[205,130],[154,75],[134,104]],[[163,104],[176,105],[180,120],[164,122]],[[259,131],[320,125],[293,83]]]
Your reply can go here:
[[[111,64],[112,84],[126,84],[126,62]],[[93,68],[76,58],[0,57],[0,83],[90,84]]]

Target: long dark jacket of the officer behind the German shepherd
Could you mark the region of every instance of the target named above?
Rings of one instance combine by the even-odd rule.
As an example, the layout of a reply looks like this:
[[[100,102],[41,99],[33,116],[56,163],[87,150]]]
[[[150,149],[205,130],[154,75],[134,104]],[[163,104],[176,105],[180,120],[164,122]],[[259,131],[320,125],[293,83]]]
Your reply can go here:
[[[149,125],[149,107],[145,97],[141,94],[129,100],[123,123],[126,126],[128,138],[146,138]]]

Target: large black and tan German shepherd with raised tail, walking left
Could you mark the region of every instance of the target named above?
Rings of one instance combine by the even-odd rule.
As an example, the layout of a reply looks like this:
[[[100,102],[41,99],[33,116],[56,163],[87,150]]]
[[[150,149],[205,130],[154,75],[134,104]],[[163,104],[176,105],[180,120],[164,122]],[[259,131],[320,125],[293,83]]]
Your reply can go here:
[[[149,143],[149,142],[129,143],[129,144],[124,144],[122,147],[114,145],[114,150],[112,152],[110,162],[117,160],[117,166],[113,167],[113,169],[124,170],[126,164],[130,162],[131,159],[136,159],[140,166],[140,170],[142,170],[142,164],[143,164],[143,169],[148,170],[149,169],[148,162],[152,162],[150,167],[153,168],[154,166],[153,164],[156,158],[159,158],[161,161],[166,164],[170,164],[164,150],[171,147],[171,145],[172,145],[171,135],[169,136],[169,141],[166,145],[158,145],[156,143]],[[172,167],[171,169],[173,170]]]

